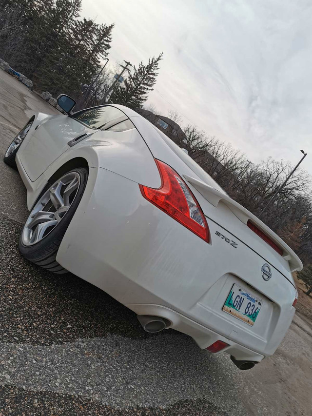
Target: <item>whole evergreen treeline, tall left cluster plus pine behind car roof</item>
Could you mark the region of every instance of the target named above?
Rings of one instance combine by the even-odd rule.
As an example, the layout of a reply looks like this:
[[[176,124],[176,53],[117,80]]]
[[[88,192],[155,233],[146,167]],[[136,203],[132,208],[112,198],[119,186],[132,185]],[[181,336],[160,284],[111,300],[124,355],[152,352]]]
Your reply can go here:
[[[80,106],[97,105],[113,82],[98,74],[114,25],[81,19],[81,0],[0,0],[0,57],[54,97],[66,93]],[[141,107],[156,82],[162,54],[134,67],[110,98]],[[96,81],[96,82],[94,82]],[[83,90],[88,86],[87,101]],[[90,94],[91,92],[91,94]]]

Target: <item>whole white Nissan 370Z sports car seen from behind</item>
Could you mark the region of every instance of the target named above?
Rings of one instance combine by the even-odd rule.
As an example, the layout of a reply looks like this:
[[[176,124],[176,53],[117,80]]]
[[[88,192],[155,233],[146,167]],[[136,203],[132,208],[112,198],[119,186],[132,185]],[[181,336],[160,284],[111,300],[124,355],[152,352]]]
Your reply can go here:
[[[133,110],[58,103],[65,114],[34,115],[4,156],[27,188],[23,256],[242,370],[271,356],[295,312],[290,247]]]

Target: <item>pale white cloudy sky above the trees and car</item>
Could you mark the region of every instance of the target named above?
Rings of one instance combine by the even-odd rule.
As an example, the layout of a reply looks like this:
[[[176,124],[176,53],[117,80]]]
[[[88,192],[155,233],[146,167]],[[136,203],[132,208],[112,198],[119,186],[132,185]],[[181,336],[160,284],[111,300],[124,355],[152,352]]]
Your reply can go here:
[[[83,0],[115,23],[110,62],[164,53],[150,103],[258,162],[312,174],[312,0]]]

